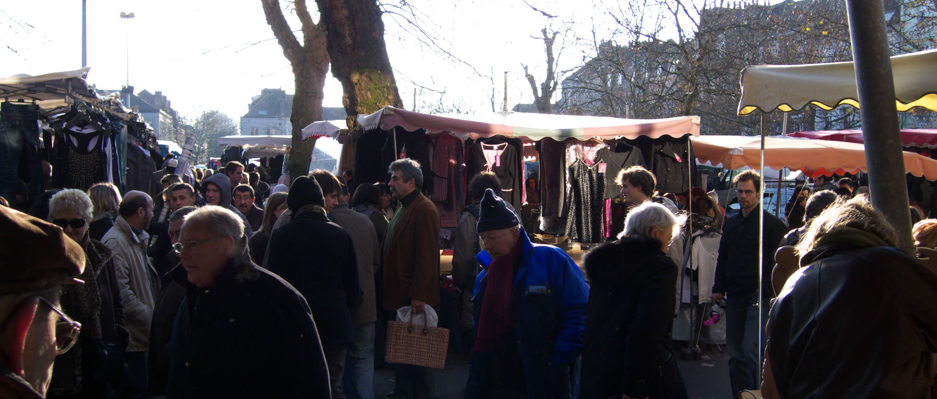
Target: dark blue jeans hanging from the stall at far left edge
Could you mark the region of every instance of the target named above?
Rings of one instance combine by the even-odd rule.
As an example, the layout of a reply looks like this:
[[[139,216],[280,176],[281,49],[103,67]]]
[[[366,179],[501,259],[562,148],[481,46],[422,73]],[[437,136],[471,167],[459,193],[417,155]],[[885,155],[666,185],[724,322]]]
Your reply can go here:
[[[42,194],[38,115],[35,104],[0,105],[0,196],[10,206],[16,206],[17,179],[26,183],[29,200]]]

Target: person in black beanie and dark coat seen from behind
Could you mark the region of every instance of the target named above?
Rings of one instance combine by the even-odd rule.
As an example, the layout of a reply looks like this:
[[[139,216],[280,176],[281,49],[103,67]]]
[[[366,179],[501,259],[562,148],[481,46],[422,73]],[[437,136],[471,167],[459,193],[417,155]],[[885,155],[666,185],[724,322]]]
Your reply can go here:
[[[345,359],[355,342],[351,314],[362,296],[354,244],[349,232],[327,217],[316,179],[297,177],[287,206],[292,220],[270,235],[264,266],[299,289],[309,303],[329,366],[332,397],[344,398]]]

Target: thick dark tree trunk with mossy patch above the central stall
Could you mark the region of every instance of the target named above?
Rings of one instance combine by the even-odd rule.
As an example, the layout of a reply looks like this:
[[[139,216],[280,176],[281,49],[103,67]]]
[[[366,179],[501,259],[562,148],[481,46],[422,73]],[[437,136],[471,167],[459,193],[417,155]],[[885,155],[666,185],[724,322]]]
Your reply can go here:
[[[357,116],[385,106],[403,108],[384,43],[384,22],[375,0],[316,0],[328,33],[332,75],[342,82],[349,127]]]

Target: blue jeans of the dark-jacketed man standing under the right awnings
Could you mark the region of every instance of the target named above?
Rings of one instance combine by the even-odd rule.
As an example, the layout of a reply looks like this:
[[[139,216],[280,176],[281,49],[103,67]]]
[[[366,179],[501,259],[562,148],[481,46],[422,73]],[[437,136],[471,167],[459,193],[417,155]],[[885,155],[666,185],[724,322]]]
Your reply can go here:
[[[729,349],[729,384],[732,394],[757,390],[761,381],[760,353],[765,353],[768,308],[758,318],[758,292],[725,298],[725,346]],[[759,342],[759,332],[761,341]]]

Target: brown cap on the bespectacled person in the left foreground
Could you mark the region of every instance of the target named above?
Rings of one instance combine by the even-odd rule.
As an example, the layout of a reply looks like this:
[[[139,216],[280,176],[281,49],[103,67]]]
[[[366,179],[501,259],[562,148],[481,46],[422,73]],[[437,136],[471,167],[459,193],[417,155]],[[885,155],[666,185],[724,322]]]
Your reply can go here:
[[[0,295],[74,282],[84,250],[52,223],[0,206]]]

